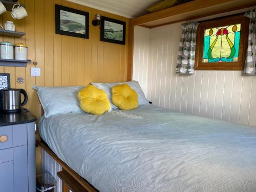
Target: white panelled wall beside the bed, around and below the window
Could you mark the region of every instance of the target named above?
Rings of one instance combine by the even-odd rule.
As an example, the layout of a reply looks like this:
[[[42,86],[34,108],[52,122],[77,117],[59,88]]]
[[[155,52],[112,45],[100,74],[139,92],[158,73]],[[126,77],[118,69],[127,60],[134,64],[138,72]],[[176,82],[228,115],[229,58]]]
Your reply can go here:
[[[256,125],[256,76],[241,71],[176,74],[181,24],[135,27],[133,79],[149,101],[164,108]]]

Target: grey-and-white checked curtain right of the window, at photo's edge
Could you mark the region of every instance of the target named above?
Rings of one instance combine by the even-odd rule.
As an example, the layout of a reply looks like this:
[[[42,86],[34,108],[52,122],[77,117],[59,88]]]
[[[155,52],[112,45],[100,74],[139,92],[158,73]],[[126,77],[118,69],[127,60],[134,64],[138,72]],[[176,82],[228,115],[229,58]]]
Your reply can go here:
[[[250,10],[245,13],[245,16],[250,18],[248,49],[245,59],[244,73],[247,75],[256,74],[256,9]]]

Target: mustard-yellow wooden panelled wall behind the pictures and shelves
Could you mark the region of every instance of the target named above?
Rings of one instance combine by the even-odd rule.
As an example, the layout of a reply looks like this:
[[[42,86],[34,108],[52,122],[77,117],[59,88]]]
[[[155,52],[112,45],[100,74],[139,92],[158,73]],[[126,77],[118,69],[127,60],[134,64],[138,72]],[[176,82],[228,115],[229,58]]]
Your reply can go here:
[[[26,5],[28,16],[14,20],[16,30],[26,32],[22,38],[0,36],[0,41],[23,42],[28,45],[28,58],[38,62],[40,77],[31,77],[30,68],[0,67],[0,73],[11,74],[11,88],[22,88],[28,93],[26,108],[39,117],[40,108],[37,86],[76,86],[89,82],[125,81],[127,76],[127,37],[129,19],[93,8],[61,0],[19,0]],[[55,4],[87,11],[90,13],[89,39],[55,34]],[[92,26],[94,15],[123,20],[126,22],[126,45],[100,41],[99,26]],[[13,20],[10,12],[0,15],[0,23]],[[24,77],[19,84],[17,77]]]

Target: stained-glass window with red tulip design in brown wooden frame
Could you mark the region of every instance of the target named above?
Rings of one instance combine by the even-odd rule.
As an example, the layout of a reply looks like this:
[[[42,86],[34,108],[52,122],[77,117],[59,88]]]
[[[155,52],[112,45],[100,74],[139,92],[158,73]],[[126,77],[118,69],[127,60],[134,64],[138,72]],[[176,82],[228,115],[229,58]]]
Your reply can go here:
[[[232,29],[232,26],[235,28]],[[232,34],[236,35],[236,33],[238,33],[238,28],[239,28],[240,38],[236,38],[236,36],[231,38],[230,36]],[[234,15],[234,16],[225,16],[219,19],[213,19],[213,20],[201,22],[197,28],[195,70],[223,70],[223,71],[244,70],[244,63],[245,63],[247,45],[248,45],[248,41],[244,39],[248,38],[248,28],[249,28],[249,18],[244,16],[243,14]],[[223,32],[224,30],[225,30],[225,33]],[[218,34],[218,32],[221,32],[221,33]],[[207,36],[212,37],[212,39],[209,38],[209,41],[206,44],[205,38]],[[229,40],[229,42],[227,39]],[[234,39],[238,39],[238,41],[234,42]],[[219,45],[218,45],[218,42],[219,42]],[[226,49],[222,48],[222,42],[224,42],[225,45],[229,44],[229,47],[228,47],[229,49],[227,51]],[[209,55],[208,55],[208,52],[205,51],[204,49],[205,46],[207,46],[207,49],[209,49],[208,52],[210,51]],[[215,55],[213,54],[214,51],[216,51],[216,47],[217,48],[221,47],[220,49],[217,49],[217,51],[220,50],[219,57],[215,56],[216,54]],[[228,60],[227,56],[231,55],[231,50],[233,50],[233,53],[236,53],[233,55],[237,57],[237,60],[231,60],[233,58]],[[225,56],[221,56],[224,51],[226,53],[230,53],[226,55],[226,58]],[[212,56],[212,58],[217,59],[217,61],[214,61],[214,59],[211,59],[209,56]],[[226,61],[224,60],[225,61],[224,62],[222,59],[223,60],[226,59]],[[208,60],[208,61],[204,61],[204,60]]]

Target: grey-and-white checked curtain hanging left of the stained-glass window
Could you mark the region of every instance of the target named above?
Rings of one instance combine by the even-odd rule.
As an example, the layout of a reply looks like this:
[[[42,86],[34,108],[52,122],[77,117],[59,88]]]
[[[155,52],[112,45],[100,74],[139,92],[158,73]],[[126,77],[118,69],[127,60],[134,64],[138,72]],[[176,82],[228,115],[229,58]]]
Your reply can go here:
[[[197,27],[197,22],[182,24],[176,73],[194,73]]]

